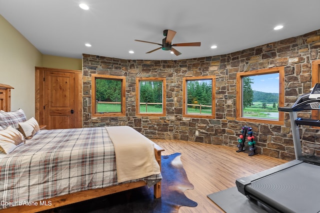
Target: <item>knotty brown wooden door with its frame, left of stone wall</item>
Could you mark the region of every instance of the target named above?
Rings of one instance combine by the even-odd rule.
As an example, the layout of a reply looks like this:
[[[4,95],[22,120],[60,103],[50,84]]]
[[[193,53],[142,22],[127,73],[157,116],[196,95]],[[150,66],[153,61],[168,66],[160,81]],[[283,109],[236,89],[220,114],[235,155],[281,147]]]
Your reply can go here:
[[[82,127],[81,71],[35,68],[35,118],[46,129]]]

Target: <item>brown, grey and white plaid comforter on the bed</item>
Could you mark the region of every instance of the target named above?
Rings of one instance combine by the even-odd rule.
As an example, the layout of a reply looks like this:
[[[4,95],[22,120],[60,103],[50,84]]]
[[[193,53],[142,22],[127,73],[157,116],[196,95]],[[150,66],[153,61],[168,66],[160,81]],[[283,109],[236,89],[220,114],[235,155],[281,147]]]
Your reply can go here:
[[[161,174],[140,180],[158,179]],[[0,209],[117,184],[104,127],[41,130],[12,153],[0,154]]]

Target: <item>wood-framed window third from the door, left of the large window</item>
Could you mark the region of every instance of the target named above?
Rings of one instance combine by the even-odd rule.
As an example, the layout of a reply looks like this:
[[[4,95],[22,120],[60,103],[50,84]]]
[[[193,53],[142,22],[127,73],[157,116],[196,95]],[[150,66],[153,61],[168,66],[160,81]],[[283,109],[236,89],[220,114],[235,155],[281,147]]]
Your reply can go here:
[[[184,77],[182,116],[215,118],[215,76]]]

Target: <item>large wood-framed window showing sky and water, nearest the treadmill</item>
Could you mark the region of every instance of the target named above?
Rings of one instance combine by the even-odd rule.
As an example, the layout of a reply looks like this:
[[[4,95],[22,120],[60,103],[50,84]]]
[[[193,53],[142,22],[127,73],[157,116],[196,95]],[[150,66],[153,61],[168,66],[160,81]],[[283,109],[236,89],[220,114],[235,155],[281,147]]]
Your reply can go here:
[[[236,75],[236,119],[283,124],[284,67],[238,72]]]

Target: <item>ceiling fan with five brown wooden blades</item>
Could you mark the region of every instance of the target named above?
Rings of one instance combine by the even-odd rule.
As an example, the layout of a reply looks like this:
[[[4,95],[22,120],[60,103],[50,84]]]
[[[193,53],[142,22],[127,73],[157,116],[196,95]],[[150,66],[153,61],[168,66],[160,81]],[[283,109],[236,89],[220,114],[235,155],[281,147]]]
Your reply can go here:
[[[170,30],[170,29],[165,29],[163,30],[163,36],[165,36],[165,38],[162,39],[162,44],[160,43],[154,43],[154,42],[150,42],[150,41],[142,41],[142,40],[135,40],[135,41],[140,41],[140,42],[145,42],[145,43],[153,43],[153,44],[157,44],[160,45],[161,47],[153,49],[151,51],[148,51],[146,53],[151,53],[155,50],[158,49],[163,49],[163,50],[171,50],[175,55],[180,55],[181,52],[177,51],[176,49],[173,48],[173,46],[200,46],[201,42],[190,42],[190,43],[174,43],[171,44],[171,41],[175,35],[175,31]]]

